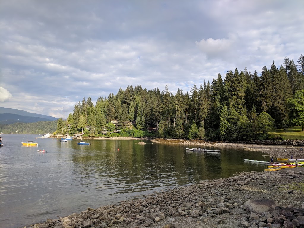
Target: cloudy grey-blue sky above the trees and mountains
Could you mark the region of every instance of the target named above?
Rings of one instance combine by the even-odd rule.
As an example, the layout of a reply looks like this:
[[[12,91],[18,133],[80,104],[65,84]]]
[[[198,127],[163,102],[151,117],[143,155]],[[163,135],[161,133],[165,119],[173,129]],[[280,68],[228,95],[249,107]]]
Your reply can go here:
[[[0,0],[0,106],[65,117],[128,85],[189,92],[304,54],[302,0]]]

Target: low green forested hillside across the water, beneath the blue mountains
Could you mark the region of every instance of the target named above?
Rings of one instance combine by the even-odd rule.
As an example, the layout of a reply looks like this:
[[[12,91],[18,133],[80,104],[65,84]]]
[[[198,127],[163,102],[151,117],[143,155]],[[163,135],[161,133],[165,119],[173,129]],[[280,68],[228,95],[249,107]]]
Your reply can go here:
[[[35,123],[0,124],[0,131],[5,134],[53,134],[57,121],[39,121]]]

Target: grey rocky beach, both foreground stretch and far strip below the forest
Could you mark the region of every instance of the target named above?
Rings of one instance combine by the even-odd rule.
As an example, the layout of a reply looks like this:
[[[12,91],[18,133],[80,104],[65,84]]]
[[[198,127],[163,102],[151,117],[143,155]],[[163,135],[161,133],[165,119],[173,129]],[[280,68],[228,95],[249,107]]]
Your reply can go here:
[[[256,150],[265,156],[302,158],[296,145],[207,143],[153,140],[208,147],[237,147]],[[286,152],[285,152],[286,150]],[[303,168],[279,171],[241,172],[229,178],[204,180],[144,199],[88,208],[69,216],[50,218],[34,228],[178,228],[178,227],[304,227]]]

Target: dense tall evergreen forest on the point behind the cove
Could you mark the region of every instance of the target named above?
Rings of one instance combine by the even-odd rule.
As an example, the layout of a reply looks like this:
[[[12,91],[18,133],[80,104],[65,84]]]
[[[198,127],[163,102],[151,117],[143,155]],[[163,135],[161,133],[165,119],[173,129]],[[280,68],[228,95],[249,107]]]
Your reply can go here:
[[[260,75],[247,68],[230,70],[185,93],[178,89],[173,94],[168,86],[160,91],[129,85],[116,95],[99,97],[95,106],[91,97],[83,98],[66,120],[57,121],[57,133],[263,140],[274,128],[303,128],[303,54],[296,63],[286,56],[280,67],[273,62]]]

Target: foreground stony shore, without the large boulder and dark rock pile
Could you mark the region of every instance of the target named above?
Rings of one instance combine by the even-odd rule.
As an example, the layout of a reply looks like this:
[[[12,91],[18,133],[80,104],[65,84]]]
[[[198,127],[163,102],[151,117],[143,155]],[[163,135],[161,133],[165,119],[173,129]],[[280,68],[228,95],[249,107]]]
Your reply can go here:
[[[121,201],[97,209],[87,208],[80,213],[47,219],[44,223],[31,226],[33,228],[249,227],[252,224],[239,225],[245,222],[249,224],[255,221],[258,223],[260,220],[266,221],[268,217],[265,215],[270,212],[261,212],[260,215],[247,212],[246,204],[250,200],[269,199],[280,208],[304,208],[303,171],[303,168],[298,167],[274,172],[241,172],[229,178],[204,180],[199,184],[153,193],[145,199]],[[271,215],[273,213],[278,212],[271,212]],[[257,218],[248,221],[253,215]],[[282,214],[280,216],[283,221],[288,220],[285,216],[283,219]],[[269,223],[274,225],[275,222],[273,219],[269,220]]]

